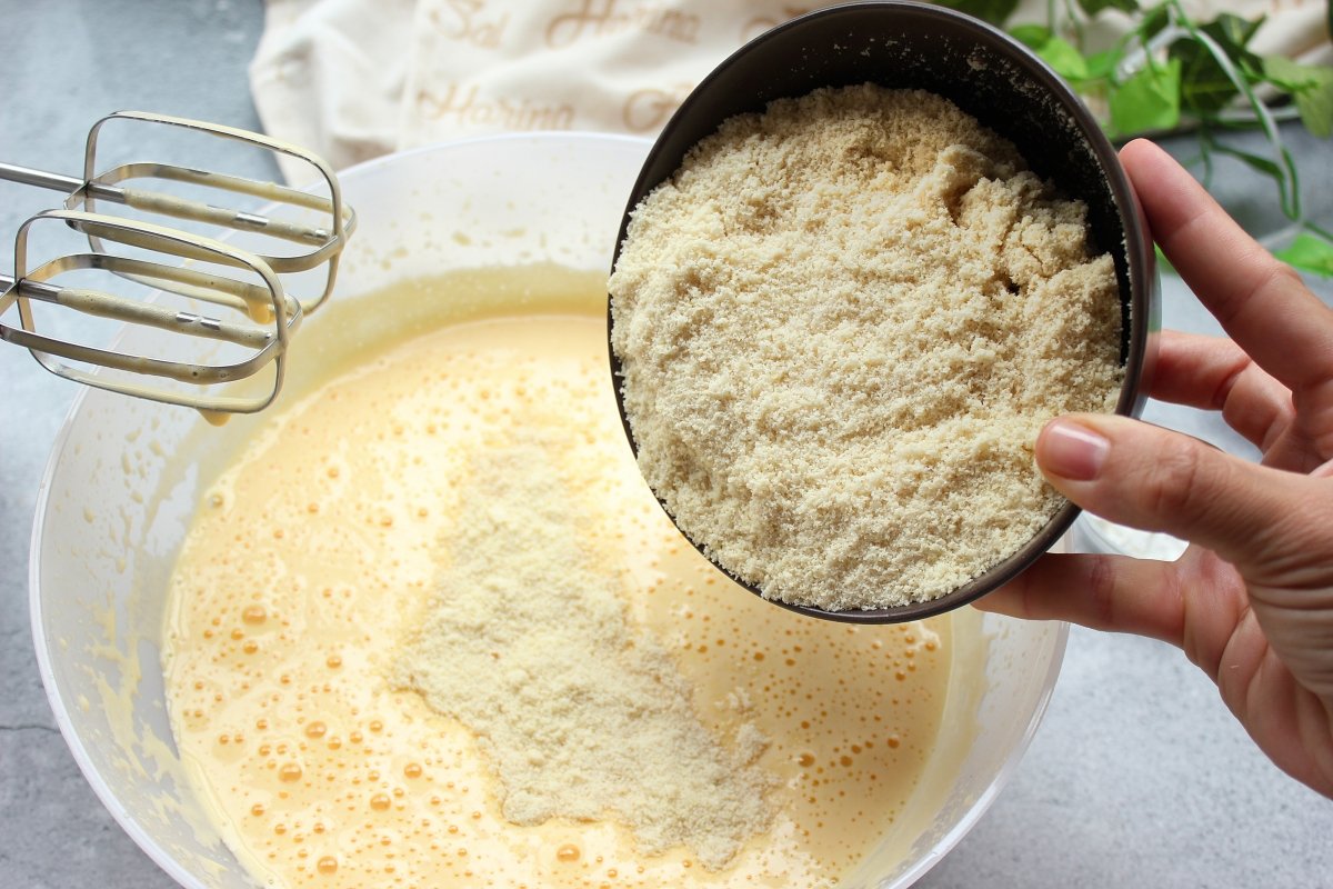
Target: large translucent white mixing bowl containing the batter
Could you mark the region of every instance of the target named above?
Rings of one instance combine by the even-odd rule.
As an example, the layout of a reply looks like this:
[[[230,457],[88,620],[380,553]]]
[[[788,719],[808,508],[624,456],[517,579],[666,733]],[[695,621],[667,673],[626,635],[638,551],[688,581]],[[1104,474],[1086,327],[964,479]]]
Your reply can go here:
[[[332,299],[447,268],[608,269],[648,148],[615,136],[507,136],[356,167],[341,181],[360,229]],[[313,316],[307,331],[320,323]],[[121,345],[151,353],[141,339],[151,336],[127,335]],[[293,353],[287,397],[316,375],[319,357]],[[160,669],[163,613],[201,492],[261,423],[236,417],[213,428],[191,411],[87,391],[55,444],[32,537],[32,630],[60,730],[135,842],[196,889],[257,884],[204,817],[176,752]],[[1064,625],[958,613],[977,622],[986,645],[954,653],[954,669],[970,680],[950,686],[937,744],[957,756],[934,757],[921,778],[929,792],[909,808],[925,829],[886,836],[848,886],[909,885],[952,849],[1018,762],[1050,697]]]

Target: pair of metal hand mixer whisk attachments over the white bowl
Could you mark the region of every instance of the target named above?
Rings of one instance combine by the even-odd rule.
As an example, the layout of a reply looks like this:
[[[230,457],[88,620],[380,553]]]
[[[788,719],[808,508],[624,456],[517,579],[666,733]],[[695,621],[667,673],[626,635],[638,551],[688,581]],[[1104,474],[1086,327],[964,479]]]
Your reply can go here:
[[[309,165],[317,185],[300,191],[167,163],[99,172],[108,125],[167,127],[287,155]],[[0,164],[0,179],[68,193],[63,209],[19,228],[15,273],[0,276],[0,339],[59,376],[205,412],[252,413],[272,403],[288,343],[333,289],[356,228],[316,155],[143,112],[92,127],[81,180],[11,164]],[[63,243],[71,235],[73,249]],[[12,316],[17,324],[5,324]]]

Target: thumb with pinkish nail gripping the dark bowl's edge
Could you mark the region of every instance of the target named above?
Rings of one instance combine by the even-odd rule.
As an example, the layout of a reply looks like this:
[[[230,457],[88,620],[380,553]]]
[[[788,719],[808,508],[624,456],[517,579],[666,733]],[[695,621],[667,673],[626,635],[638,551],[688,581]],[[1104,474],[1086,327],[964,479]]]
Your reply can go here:
[[[1312,520],[1329,518],[1308,477],[1126,417],[1057,417],[1037,437],[1036,456],[1050,484],[1084,509],[1201,544],[1246,574],[1264,573]]]

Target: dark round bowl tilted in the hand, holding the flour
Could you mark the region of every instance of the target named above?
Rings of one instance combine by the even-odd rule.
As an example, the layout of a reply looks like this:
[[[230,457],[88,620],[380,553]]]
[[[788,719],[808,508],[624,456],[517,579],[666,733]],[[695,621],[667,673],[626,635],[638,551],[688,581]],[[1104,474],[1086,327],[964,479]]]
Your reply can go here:
[[[1116,412],[1138,416],[1156,357],[1150,335],[1160,327],[1157,276],[1148,227],[1116,149],[1078,96],[1030,49],[952,9],[901,0],[829,7],[778,25],[737,49],[694,88],[657,137],[625,205],[612,263],[620,259],[631,211],[724,120],[761,112],[774,99],[864,83],[926,89],[949,99],[1012,141],[1034,173],[1088,204],[1093,247],[1110,252],[1120,281],[1125,383]],[[608,335],[609,325],[608,312]],[[615,351],[611,369],[625,435],[637,454]],[[769,601],[801,614],[858,624],[929,617],[1017,577],[1064,536],[1077,514],[1078,508],[1066,504],[1012,556],[930,601],[845,612]],[[694,548],[702,552],[698,544]],[[732,580],[760,594],[740,578]]]

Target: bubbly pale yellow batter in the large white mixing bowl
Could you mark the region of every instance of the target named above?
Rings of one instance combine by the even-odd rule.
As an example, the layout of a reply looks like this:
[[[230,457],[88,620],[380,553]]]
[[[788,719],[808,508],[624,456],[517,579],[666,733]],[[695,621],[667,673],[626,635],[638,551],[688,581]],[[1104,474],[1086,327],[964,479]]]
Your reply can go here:
[[[196,790],[265,885],[821,886],[894,830],[938,729],[950,621],[798,617],[684,544],[624,444],[601,285],[541,268],[335,304],[303,336],[367,305],[393,316],[395,299],[457,309],[379,356],[321,353],[329,379],[205,494],[168,608],[168,700]],[[700,721],[718,742],[740,722],[766,738],[754,762],[773,818],[718,870],[688,848],[645,856],[615,822],[507,822],[477,740],[393,686],[469,466],[532,429],[560,433],[551,458],[600,504],[587,544]]]

